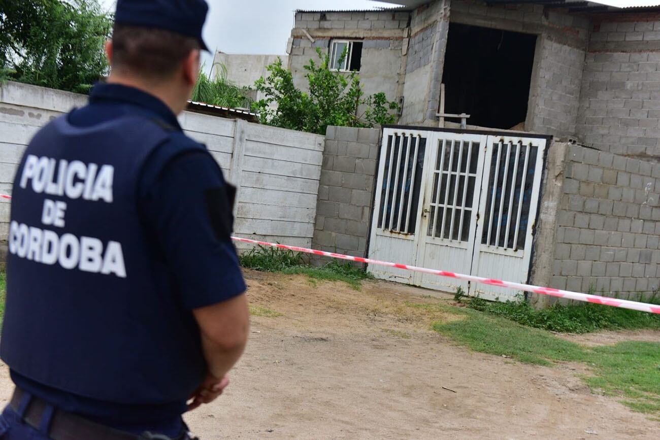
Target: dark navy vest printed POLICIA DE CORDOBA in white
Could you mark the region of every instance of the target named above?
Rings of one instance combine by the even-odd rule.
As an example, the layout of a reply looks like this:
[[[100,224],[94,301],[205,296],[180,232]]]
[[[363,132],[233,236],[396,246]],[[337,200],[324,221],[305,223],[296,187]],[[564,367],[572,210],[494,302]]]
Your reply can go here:
[[[16,172],[0,356],[13,371],[117,403],[174,402],[205,376],[199,329],[137,206],[172,133],[144,117],[49,123]],[[168,148],[163,164],[194,142]]]

